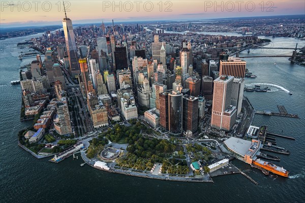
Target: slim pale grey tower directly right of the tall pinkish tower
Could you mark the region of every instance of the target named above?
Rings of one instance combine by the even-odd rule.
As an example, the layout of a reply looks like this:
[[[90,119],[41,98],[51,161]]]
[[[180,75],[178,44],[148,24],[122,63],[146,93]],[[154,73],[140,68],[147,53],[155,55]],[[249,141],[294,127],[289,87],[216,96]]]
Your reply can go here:
[[[245,87],[245,79],[234,78],[233,87],[232,87],[233,89],[232,89],[231,105],[236,107],[237,109],[236,115],[238,115],[241,111],[244,87]]]

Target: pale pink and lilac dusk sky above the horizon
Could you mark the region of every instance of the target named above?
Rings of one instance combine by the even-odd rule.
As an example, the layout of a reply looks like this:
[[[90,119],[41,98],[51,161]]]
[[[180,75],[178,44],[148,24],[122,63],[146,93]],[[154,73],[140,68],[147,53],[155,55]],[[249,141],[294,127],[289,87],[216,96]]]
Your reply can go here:
[[[65,1],[67,17],[78,23],[204,20],[228,17],[305,15],[302,0],[233,1]],[[59,25],[62,1],[2,1],[0,27]]]

